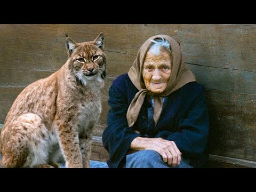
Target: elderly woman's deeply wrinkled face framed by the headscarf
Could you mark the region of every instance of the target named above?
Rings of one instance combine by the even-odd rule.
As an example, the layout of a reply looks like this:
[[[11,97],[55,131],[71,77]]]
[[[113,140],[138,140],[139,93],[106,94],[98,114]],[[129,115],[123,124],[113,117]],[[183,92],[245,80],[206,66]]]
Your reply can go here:
[[[152,93],[163,93],[171,76],[171,53],[162,47],[158,55],[147,53],[142,76],[147,90]]]

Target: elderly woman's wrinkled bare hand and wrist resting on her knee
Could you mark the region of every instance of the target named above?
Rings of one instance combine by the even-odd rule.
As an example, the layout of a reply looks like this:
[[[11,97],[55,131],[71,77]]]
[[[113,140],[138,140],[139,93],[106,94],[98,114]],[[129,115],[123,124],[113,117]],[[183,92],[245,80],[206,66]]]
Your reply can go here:
[[[154,150],[163,157],[163,161],[168,165],[180,164],[181,152],[174,141],[162,138],[137,137],[131,142],[130,148],[133,150]]]

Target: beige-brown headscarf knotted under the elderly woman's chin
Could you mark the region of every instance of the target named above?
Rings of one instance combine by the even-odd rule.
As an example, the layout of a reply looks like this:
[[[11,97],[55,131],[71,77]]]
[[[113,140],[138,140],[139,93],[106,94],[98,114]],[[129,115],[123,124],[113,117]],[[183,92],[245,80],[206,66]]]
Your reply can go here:
[[[143,63],[146,57],[146,53],[149,50],[151,45],[150,39],[154,40],[156,38],[164,38],[171,45],[171,54],[172,54],[172,70],[171,77],[167,84],[165,91],[161,94],[155,95],[154,97],[154,121],[155,125],[157,124],[159,117],[162,112],[163,106],[163,98],[167,97],[172,92],[180,89],[183,85],[189,82],[195,82],[195,75],[189,70],[185,63],[183,63],[182,53],[180,50],[180,45],[170,36],[167,35],[156,35],[147,39],[145,43],[140,47],[140,50],[137,54],[137,58],[133,62],[132,67],[130,68],[128,75],[132,81],[132,83],[137,87],[139,92],[135,94],[128,110],[127,110],[127,121],[129,127],[131,127],[138,118],[141,106],[143,105],[143,101],[145,96],[149,92],[146,89],[146,85],[143,81],[142,70]]]

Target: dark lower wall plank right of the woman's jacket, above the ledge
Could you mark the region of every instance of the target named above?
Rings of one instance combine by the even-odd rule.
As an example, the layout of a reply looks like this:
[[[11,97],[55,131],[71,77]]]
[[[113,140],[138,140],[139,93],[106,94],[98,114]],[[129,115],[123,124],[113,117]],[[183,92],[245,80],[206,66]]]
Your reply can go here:
[[[256,95],[206,90],[211,154],[256,161]]]

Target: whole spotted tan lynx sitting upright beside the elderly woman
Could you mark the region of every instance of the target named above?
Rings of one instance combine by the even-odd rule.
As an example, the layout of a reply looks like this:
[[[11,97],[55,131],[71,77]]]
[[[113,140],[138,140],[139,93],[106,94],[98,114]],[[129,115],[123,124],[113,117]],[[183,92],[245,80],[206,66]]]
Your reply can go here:
[[[66,38],[68,60],[28,85],[14,101],[0,135],[2,167],[89,167],[92,130],[101,113],[106,77],[104,35]]]

